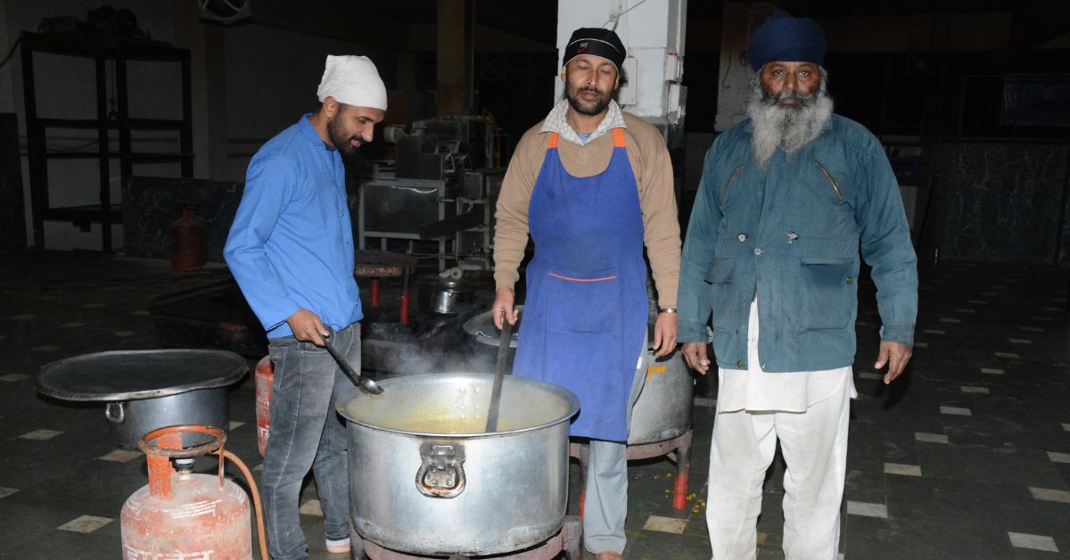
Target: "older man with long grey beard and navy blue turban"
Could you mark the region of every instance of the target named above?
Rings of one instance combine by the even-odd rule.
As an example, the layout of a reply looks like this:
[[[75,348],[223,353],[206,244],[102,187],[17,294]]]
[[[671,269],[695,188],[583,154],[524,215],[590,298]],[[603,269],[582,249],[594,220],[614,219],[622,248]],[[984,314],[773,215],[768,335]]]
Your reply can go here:
[[[715,560],[755,557],[779,440],[784,557],[831,560],[857,396],[859,253],[877,287],[886,383],[911,358],[916,257],[881,142],[832,113],[821,27],[777,11],[747,55],[750,118],[706,153],[679,273],[684,355],[705,374],[712,339],[718,366],[706,524]]]

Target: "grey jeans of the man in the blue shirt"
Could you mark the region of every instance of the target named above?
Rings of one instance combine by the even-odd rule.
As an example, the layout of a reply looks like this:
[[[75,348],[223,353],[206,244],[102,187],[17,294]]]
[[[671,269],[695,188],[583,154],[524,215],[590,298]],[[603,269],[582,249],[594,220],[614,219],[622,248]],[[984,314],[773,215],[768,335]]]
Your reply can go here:
[[[334,347],[361,367],[361,326],[335,333]],[[335,403],[353,382],[331,354],[293,336],[269,340],[275,378],[271,388],[271,432],[264,452],[261,495],[271,557],[307,559],[297,501],[309,469],[323,509],[325,538],[349,536],[349,473],[346,421]]]

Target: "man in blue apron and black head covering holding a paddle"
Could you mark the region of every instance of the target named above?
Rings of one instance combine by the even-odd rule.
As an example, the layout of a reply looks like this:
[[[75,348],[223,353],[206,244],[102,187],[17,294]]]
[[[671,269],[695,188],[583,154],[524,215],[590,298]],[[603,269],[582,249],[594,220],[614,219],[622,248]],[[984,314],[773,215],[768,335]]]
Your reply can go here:
[[[627,514],[628,421],[645,376],[648,303],[643,247],[658,289],[656,355],[676,345],[679,226],[672,166],[648,123],[611,99],[625,48],[579,29],[562,61],[565,99],[517,146],[494,234],[495,323],[516,323],[513,286],[529,234],[535,255],[514,374],[580,398],[571,436],[591,440],[585,548],[621,558]]]

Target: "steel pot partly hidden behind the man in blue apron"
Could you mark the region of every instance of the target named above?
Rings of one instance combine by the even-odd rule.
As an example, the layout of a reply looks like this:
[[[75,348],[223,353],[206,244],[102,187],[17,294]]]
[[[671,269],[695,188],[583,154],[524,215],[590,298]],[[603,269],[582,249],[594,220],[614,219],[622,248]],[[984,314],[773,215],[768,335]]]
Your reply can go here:
[[[646,351],[646,381],[631,409],[628,444],[641,445],[675,438],[691,427],[694,378],[678,351],[654,358]]]

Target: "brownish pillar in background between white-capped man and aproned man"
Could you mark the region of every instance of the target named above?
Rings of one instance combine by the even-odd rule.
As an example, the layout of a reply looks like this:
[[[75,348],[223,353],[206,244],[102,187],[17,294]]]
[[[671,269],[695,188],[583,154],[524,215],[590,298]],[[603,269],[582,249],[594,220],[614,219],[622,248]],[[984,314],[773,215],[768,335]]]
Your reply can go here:
[[[462,115],[472,107],[473,0],[439,0],[438,115]]]

